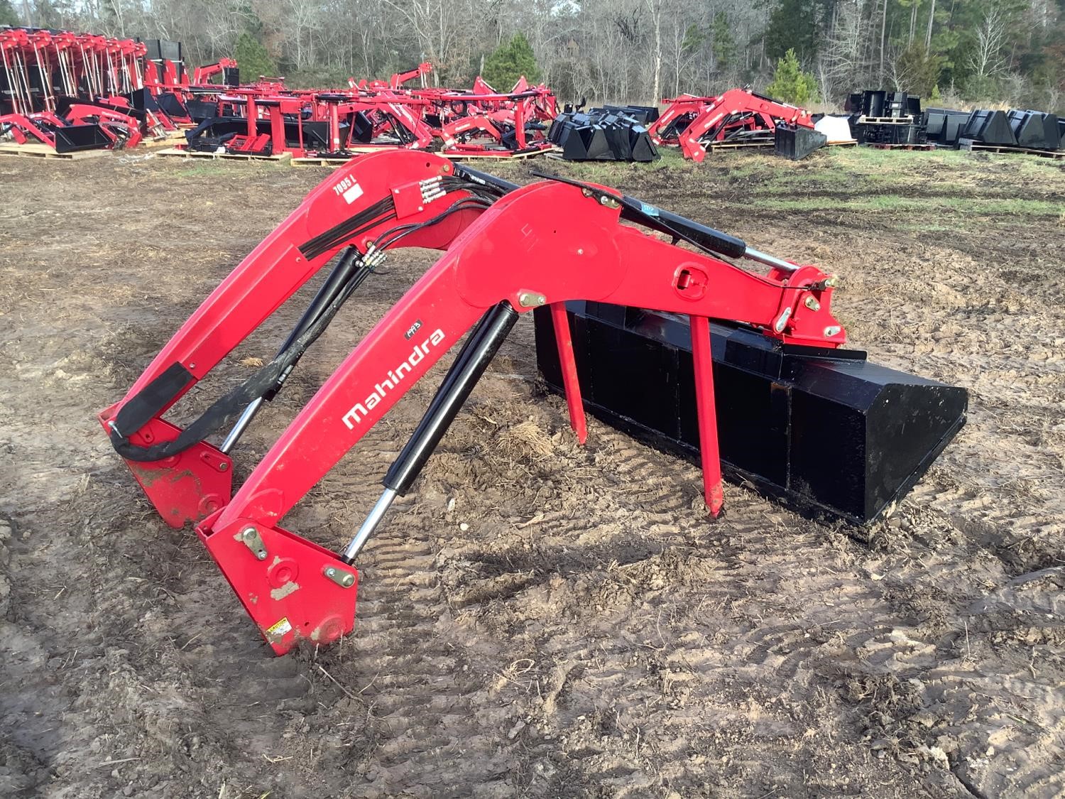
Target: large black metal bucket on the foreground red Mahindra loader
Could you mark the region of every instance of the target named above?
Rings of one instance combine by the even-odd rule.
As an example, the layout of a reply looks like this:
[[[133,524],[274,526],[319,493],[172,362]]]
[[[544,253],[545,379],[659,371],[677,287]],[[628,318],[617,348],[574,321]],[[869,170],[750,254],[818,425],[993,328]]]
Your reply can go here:
[[[585,407],[698,459],[687,317],[583,300],[567,311]],[[535,314],[540,371],[561,392],[551,313]],[[710,331],[725,476],[807,516],[875,521],[965,424],[965,389],[869,363],[862,352],[783,345],[721,324]]]

